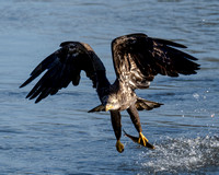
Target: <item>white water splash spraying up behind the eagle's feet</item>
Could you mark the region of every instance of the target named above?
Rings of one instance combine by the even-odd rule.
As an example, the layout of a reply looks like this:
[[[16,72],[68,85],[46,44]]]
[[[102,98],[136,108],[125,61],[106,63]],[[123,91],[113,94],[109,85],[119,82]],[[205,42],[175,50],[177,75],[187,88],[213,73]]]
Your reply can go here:
[[[166,138],[155,145],[155,151],[141,153],[139,163],[150,173],[189,173],[218,166],[219,137]]]

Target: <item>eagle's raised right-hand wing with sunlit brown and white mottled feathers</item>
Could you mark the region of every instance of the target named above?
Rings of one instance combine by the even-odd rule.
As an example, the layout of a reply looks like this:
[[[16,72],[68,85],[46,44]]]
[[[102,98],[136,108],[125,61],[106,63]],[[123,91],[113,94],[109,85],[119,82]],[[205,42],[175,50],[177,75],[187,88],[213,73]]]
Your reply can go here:
[[[195,74],[199,65],[197,58],[173,47],[184,45],[130,34],[112,42],[112,52],[116,75],[132,89],[147,89],[158,73],[170,77]]]

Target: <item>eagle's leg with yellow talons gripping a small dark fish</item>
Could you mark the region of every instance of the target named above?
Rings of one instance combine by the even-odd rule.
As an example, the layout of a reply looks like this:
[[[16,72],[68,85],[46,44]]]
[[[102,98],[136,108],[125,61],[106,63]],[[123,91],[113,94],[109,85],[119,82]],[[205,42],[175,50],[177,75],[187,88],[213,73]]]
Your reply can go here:
[[[136,106],[131,105],[127,109],[127,112],[130,115],[130,119],[131,119],[132,124],[135,125],[135,127],[136,127],[136,129],[137,129],[137,131],[139,133],[139,138],[137,139],[136,142],[138,142],[139,144],[141,144],[143,147],[147,147],[147,148],[150,148],[150,149],[154,149],[154,147],[148,142],[148,139],[142,133],[142,129],[141,129],[141,125],[140,125],[140,118],[139,118],[138,110],[137,110]],[[126,136],[129,137],[134,141],[136,140],[135,137],[131,137],[130,135],[126,133]]]

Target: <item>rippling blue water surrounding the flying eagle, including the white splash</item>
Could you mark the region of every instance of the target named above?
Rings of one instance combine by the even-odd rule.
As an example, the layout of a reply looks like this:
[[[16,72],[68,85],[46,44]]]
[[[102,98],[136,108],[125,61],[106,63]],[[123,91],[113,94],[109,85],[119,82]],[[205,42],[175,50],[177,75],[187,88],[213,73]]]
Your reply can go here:
[[[218,0],[0,1],[0,174],[219,174]],[[140,112],[151,151],[122,137],[117,153],[108,113],[82,74],[77,88],[39,104],[19,89],[64,40],[89,43],[115,79],[111,40],[142,32],[180,42],[199,58],[198,74],[158,75],[138,95],[164,103]],[[137,136],[126,112],[123,128]]]

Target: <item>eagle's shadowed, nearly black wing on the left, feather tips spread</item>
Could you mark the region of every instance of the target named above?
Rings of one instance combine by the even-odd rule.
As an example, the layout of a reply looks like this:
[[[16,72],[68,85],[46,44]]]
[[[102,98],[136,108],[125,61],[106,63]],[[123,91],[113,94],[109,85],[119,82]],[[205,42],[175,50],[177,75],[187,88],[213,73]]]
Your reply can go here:
[[[67,88],[70,82],[78,85],[80,72],[84,70],[87,77],[96,85],[96,73],[94,63],[100,61],[99,69],[105,69],[101,60],[88,44],[78,42],[65,42],[60,44],[60,49],[45,58],[31,73],[31,77],[20,86],[23,88],[45,70],[46,73],[35,84],[27,94],[27,98],[36,98],[35,103],[56,94],[60,89]],[[99,60],[95,60],[99,59]]]

